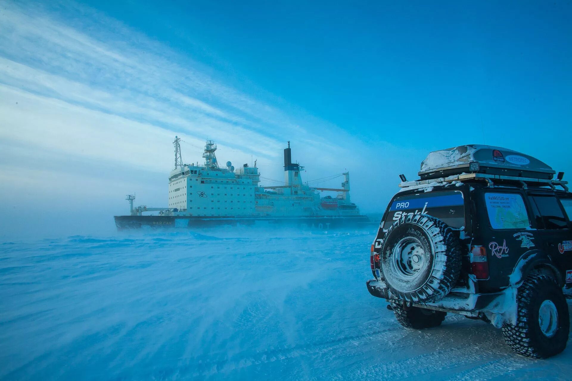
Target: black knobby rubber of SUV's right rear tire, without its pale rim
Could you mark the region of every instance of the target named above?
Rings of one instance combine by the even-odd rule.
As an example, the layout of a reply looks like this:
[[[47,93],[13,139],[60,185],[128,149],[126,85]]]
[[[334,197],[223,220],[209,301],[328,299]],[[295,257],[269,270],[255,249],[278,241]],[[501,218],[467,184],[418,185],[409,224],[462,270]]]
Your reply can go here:
[[[558,312],[551,337],[541,330],[539,310],[545,300],[554,303]],[[517,324],[502,328],[505,341],[518,354],[545,359],[559,354],[566,348],[570,331],[568,304],[556,281],[547,275],[529,275],[517,291]]]

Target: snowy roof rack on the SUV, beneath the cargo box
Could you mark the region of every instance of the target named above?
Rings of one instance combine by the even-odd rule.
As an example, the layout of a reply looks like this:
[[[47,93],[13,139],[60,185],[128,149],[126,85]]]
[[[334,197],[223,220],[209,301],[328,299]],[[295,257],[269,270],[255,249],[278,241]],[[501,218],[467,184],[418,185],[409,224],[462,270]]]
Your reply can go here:
[[[444,185],[446,183],[462,182],[464,180],[482,180],[486,181],[489,187],[494,187],[494,182],[511,181],[521,183],[523,189],[527,189],[528,185],[539,185],[539,186],[549,186],[555,189],[557,186],[561,186],[566,192],[568,192],[567,181],[562,181],[558,179],[539,179],[531,177],[517,177],[517,176],[505,176],[505,175],[490,175],[484,173],[462,173],[459,175],[452,175],[446,178],[438,179],[427,179],[427,180],[417,180],[417,181],[406,181],[401,182],[399,187],[402,188],[420,188],[429,187],[435,185]]]

